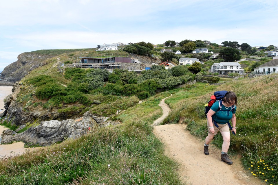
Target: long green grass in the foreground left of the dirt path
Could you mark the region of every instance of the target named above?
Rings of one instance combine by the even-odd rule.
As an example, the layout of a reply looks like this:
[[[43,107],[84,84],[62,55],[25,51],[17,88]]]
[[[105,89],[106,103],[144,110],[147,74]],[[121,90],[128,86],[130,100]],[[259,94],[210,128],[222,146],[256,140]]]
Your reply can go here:
[[[183,184],[150,124],[96,125],[81,138],[2,160],[0,184]]]

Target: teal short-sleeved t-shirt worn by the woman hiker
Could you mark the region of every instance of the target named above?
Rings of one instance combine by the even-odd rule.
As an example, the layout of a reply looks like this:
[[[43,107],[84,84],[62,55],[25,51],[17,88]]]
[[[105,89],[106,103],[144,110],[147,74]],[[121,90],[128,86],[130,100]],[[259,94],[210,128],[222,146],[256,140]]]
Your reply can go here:
[[[230,119],[232,119],[233,114],[235,114],[235,111],[237,109],[237,107],[235,106],[233,111],[218,111],[218,107],[219,107],[219,102],[215,101],[215,103],[213,103],[213,105],[211,106],[211,110],[215,111],[215,114],[212,115],[212,118],[216,121],[216,123],[219,124],[225,124],[227,123]],[[222,105],[221,110],[232,110],[232,107],[225,107],[224,105]],[[229,115],[228,115],[229,112]]]

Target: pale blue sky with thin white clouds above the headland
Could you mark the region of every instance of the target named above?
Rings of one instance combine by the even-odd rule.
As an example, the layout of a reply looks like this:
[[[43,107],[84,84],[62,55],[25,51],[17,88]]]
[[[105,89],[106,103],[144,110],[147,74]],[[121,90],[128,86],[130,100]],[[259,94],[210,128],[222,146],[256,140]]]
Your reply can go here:
[[[23,52],[167,40],[278,45],[270,0],[4,0],[0,71]]]

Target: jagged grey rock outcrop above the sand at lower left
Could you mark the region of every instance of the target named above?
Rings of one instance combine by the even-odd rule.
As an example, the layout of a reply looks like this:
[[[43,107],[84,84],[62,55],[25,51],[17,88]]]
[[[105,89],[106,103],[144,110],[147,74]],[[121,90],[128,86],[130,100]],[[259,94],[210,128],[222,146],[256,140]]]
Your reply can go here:
[[[14,141],[23,141],[27,144],[47,146],[63,141],[65,138],[78,138],[88,132],[88,128],[95,124],[106,126],[116,123],[107,121],[106,117],[92,115],[88,111],[78,119],[41,121],[40,125],[31,127],[19,134],[7,129],[1,135],[1,143],[8,144]]]

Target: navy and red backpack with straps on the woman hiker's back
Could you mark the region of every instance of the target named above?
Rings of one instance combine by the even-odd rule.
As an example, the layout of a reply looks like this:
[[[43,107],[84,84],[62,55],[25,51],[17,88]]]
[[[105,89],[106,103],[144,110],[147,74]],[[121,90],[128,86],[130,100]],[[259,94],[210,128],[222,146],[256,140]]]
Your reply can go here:
[[[209,110],[211,109],[211,106],[217,100],[218,100],[218,103],[219,103],[219,107],[218,107],[216,112],[218,112],[218,111],[228,111],[228,115],[229,115],[229,112],[232,112],[235,109],[235,106],[233,105],[232,106],[232,110],[221,110],[222,101],[223,101],[222,99],[225,97],[226,93],[227,93],[226,90],[215,91],[213,93],[213,95],[211,96],[211,100],[208,102],[208,105],[205,107],[206,118],[208,118],[207,114],[208,114]],[[217,127],[217,128],[219,127],[215,120],[212,119],[212,122],[214,123],[215,127]],[[232,128],[232,126],[230,124],[230,121],[228,121],[227,123],[228,123],[229,128],[232,130],[233,128]]]

